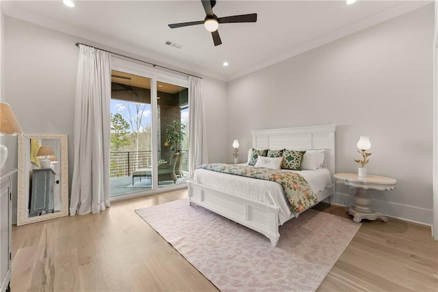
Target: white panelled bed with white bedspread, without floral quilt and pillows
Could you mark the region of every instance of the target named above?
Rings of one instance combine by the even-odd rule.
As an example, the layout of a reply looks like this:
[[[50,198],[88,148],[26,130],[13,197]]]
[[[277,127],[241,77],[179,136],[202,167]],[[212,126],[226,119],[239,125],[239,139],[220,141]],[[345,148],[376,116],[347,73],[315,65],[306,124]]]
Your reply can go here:
[[[324,150],[324,163],[320,170],[298,173],[315,175],[320,172],[321,177],[329,177],[330,183],[324,187],[315,187],[314,183],[309,185],[318,202],[331,202],[334,193],[331,182],[335,174],[335,129],[335,125],[324,125],[255,130],[251,131],[253,148]],[[303,176],[306,178],[306,175]],[[316,176],[320,177],[319,174]],[[279,226],[295,217],[287,212],[289,206],[283,187],[273,181],[197,169],[188,181],[188,196],[190,204],[198,204],[265,235],[273,247],[280,238]]]

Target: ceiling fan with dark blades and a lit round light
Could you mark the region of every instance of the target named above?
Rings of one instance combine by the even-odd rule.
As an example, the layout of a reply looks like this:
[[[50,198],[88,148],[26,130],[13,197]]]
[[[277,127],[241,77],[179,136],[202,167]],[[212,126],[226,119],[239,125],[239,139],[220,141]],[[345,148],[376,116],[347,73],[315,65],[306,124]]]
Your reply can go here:
[[[218,17],[213,13],[214,5],[216,5],[216,0],[201,0],[205,10],[205,19],[203,21],[191,21],[189,23],[172,23],[169,25],[171,29],[177,27],[187,27],[189,25],[202,25],[204,24],[205,29],[211,32],[213,36],[213,42],[215,46],[222,44],[220,40],[218,27],[219,23],[255,23],[257,21],[257,13],[253,14],[242,14],[226,17]]]

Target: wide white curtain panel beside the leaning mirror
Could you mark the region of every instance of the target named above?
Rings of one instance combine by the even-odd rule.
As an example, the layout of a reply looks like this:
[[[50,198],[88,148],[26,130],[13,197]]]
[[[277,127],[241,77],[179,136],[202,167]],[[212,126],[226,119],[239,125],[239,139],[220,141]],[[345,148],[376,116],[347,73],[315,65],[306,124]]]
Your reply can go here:
[[[70,215],[110,207],[110,53],[79,45]]]

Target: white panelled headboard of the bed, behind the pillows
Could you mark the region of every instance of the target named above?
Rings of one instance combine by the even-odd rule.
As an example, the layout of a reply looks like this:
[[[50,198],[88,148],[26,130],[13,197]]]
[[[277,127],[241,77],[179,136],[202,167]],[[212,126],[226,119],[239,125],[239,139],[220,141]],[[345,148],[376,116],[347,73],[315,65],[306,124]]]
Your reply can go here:
[[[324,168],[335,174],[336,125],[253,130],[253,148],[312,150],[326,148]]]

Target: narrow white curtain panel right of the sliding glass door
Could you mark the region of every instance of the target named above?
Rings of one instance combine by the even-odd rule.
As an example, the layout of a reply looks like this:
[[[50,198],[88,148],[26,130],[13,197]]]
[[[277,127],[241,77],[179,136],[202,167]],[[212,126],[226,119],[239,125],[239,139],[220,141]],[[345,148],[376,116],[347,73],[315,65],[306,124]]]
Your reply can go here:
[[[189,130],[190,130],[190,160],[189,176],[202,164],[208,163],[207,131],[205,129],[203,79],[189,77]]]

